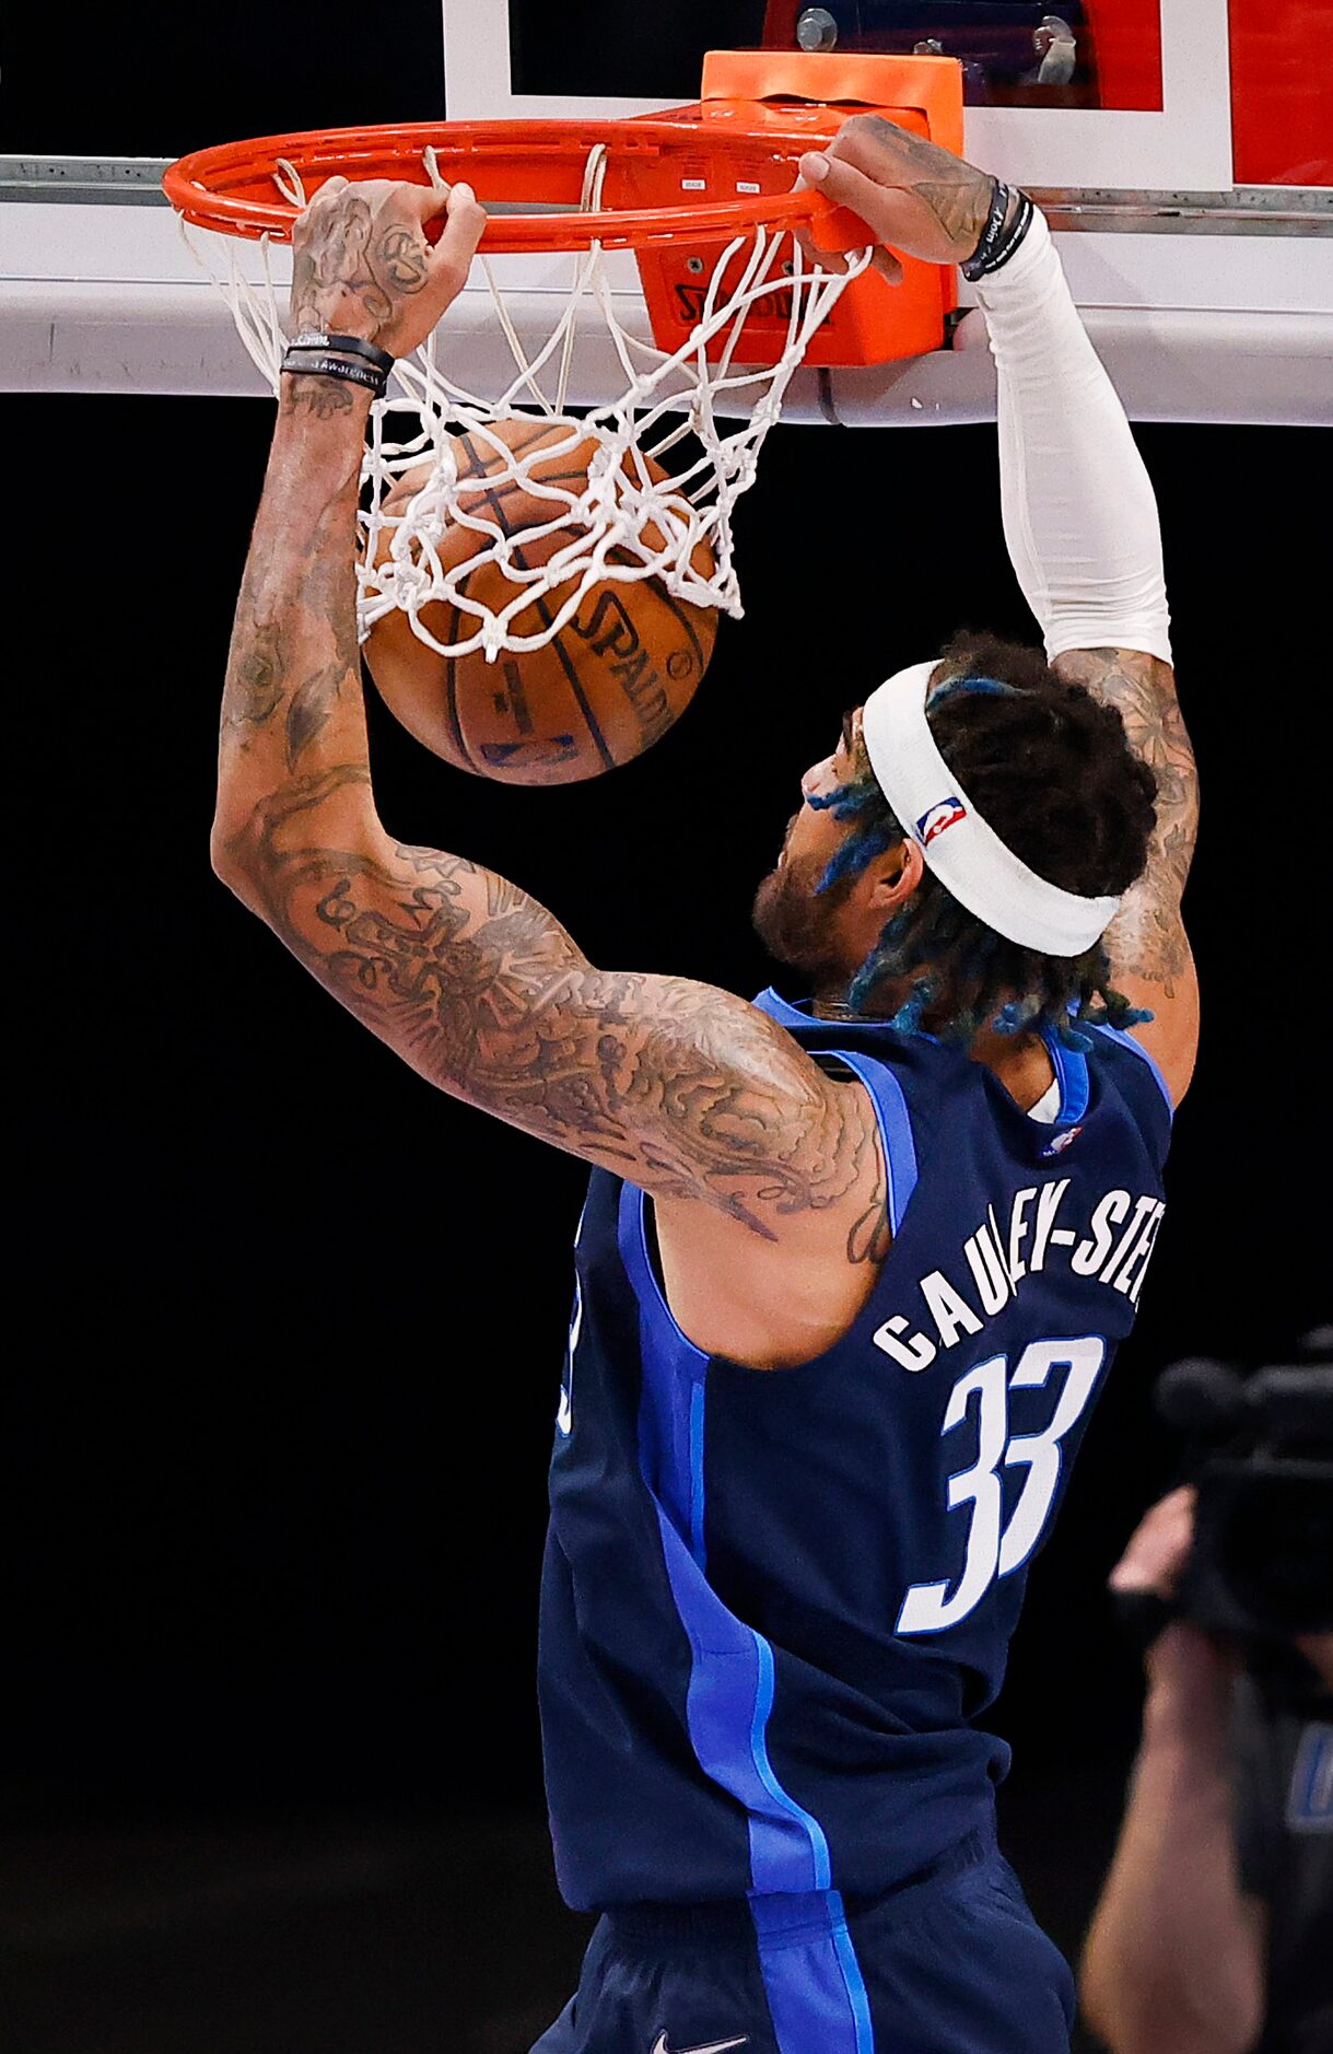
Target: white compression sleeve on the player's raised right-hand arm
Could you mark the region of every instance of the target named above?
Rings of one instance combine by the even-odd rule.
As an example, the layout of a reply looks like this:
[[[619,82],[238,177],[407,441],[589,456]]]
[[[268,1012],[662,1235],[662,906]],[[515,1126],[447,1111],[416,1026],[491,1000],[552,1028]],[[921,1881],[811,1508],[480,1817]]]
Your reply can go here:
[[[1169,663],[1156,499],[1041,212],[978,298],[998,374],[1004,540],[1048,657],[1146,649]]]

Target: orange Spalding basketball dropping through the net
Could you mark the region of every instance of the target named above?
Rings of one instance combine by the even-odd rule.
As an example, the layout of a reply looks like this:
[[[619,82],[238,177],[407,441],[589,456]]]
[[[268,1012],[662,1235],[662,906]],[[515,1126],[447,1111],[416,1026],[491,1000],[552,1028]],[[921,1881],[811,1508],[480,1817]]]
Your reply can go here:
[[[532,479],[575,493],[598,448],[589,438],[542,458],[542,446],[569,440],[569,423],[542,419],[499,419],[493,433],[524,456]],[[509,546],[516,565],[538,569],[571,542],[571,528],[522,542],[524,530],[550,522],[553,503],[528,491],[524,481],[503,479],[505,460],[483,438],[454,438],[454,456],[458,511],[518,536]],[[643,462],[655,483],[665,477],[661,464],[647,456]],[[403,514],[429,472],[429,464],[407,470],[382,511]],[[489,483],[497,472],[501,481]],[[388,557],[390,534],[380,534],[376,563]],[[458,569],[489,540],[454,522],[440,542],[442,567]],[[655,530],[647,530],[647,540],[655,542]],[[702,575],[713,571],[707,542],[694,550],[694,569]],[[460,585],[460,594],[493,612],[509,604],[518,589],[493,561],[479,563]],[[548,626],[569,589],[555,585],[534,594],[513,616],[513,633],[536,635]],[[425,604],[421,624],[446,649],[477,633],[477,616],[450,600]],[[442,655],[394,608],[372,629],[366,661],[384,702],[435,756],[507,785],[569,785],[614,770],[661,739],[694,696],[715,635],[717,612],[674,598],[659,577],[606,579],[589,585],[573,618],[540,649],[505,649],[491,663],[481,649]]]

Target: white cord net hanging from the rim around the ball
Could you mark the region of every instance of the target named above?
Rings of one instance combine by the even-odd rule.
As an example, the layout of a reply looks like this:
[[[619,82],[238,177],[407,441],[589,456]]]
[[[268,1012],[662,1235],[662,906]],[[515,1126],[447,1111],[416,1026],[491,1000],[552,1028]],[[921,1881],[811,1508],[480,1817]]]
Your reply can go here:
[[[425,152],[425,164],[437,181],[433,150]],[[604,164],[606,146],[598,144],[583,179],[585,212],[600,203]],[[304,207],[306,195],[290,164],[279,164],[275,183],[285,199]],[[207,263],[251,357],[277,392],[288,308],[285,294],[269,271],[269,238],[263,238],[263,286],[240,275],[232,238],[210,234],[205,240],[210,251],[226,242],[226,265],[216,263],[193,240],[191,249]],[[470,392],[450,376],[446,314],[423,349],[394,364],[388,392],[372,407],[359,511],[361,641],[376,620],[401,608],[419,639],[442,655],[483,649],[487,657],[495,657],[501,649],[538,649],[573,618],[589,587],[612,579],[633,583],[657,577],[678,600],[739,614],[731,509],[754,483],[760,444],[780,415],[783,394],[811,335],[869,261],[871,251],[861,251],[848,259],[846,273],[824,271],[805,259],[791,230],[756,226],[719,246],[702,292],[702,312],[680,349],[668,355],[631,335],[616,316],[602,246],[594,242],[571,257],[569,296],[563,304],[557,302],[561,312],[548,341],[530,355],[505,310],[491,265],[479,259],[499,327],[495,390]],[[774,292],[783,294],[789,308],[778,362],[746,366],[746,316],[758,300],[772,306]],[[581,325],[585,329],[592,320],[602,322],[610,335],[624,392],[589,413],[573,415],[565,411],[573,351]],[[711,345],[717,345],[713,362],[707,355]],[[544,425],[528,458],[493,431],[493,423],[513,415]],[[483,452],[487,487],[495,493],[509,485],[522,487],[548,507],[548,520],[509,534],[487,514],[474,474],[470,487],[464,477],[460,493],[452,450],[452,438],[460,433],[468,433]],[[694,438],[688,448],[686,438]],[[596,450],[581,489],[577,481],[553,483],[546,477],[571,468],[553,458],[573,450],[587,452],[589,442]],[[672,452],[678,452],[676,468]],[[645,458],[668,464],[670,474],[653,479]],[[429,479],[403,514],[386,516],[380,509],[386,489],[423,462],[431,466]],[[581,464],[583,456],[579,468]],[[477,534],[477,548],[450,567],[440,559],[440,544],[456,524]],[[386,530],[388,550],[382,542]],[[528,567],[513,557],[518,542],[532,544],[557,532],[565,540],[544,563]],[[376,557],[384,561],[376,563]],[[507,585],[472,577],[487,563],[503,569]],[[477,585],[485,585],[493,600],[503,592],[511,596],[493,608]],[[553,594],[555,604],[534,606],[536,598]],[[437,602],[456,608],[450,620],[454,639],[448,645],[435,639],[423,618],[423,610]],[[544,618],[532,631],[538,614]],[[516,626],[520,616],[526,633]],[[442,618],[450,616],[435,614],[437,622]]]

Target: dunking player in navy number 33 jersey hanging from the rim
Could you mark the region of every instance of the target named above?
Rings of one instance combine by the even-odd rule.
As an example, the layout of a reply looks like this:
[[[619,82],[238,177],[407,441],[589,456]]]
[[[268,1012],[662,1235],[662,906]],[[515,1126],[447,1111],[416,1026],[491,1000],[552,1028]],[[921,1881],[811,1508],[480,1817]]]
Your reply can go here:
[[[335,179],[298,226],[296,325],[349,341],[288,359],[226,682],[218,873],[429,1082],[594,1165],[540,1699],[561,1888],[604,1916],[540,2054],[1068,2046],[978,1719],[1163,1216],[1195,778],[1152,491],[1045,222],[871,117],[801,168],[976,277],[1045,637],[830,733],[756,908],[809,998],[594,965],[380,826],[361,431],[464,281],[466,187],[433,255],[415,187]]]

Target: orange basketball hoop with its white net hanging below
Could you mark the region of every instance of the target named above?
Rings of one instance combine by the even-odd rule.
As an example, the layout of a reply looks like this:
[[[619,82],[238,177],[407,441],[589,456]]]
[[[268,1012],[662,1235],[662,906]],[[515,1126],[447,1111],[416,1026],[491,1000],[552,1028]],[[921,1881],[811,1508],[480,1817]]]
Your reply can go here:
[[[713,101],[626,121],[327,129],[199,150],[168,168],[166,197],[183,226],[205,232],[205,249],[187,240],[273,390],[288,310],[269,244],[290,240],[298,212],[327,179],[466,181],[489,210],[477,263],[497,327],[491,388],[472,390],[452,376],[446,318],[394,366],[386,396],[372,407],[359,507],[361,641],[398,608],[442,655],[522,653],[559,637],[583,596],[610,581],[657,579],[686,604],[741,612],[731,514],[754,483],[787,384],[822,331],[828,351],[844,296],[889,292],[867,275],[865,226],[822,193],[793,189],[799,154],[842,119],[830,119],[830,109],[820,115],[822,123],[813,113],[793,119],[787,109],[783,121],[758,103]],[[926,131],[920,113],[896,119]],[[263,286],[242,277],[236,238],[261,242]],[[824,269],[809,246],[846,253],[846,269]],[[606,267],[614,249],[637,255],[651,343],[616,312]],[[571,253],[569,290],[553,298],[555,320],[538,347],[520,337],[491,267],[497,255],[534,251]],[[879,347],[881,357],[939,341],[941,273],[916,269],[926,325],[912,329],[908,292],[900,302],[908,347]],[[579,329],[592,325],[610,345],[618,394],[575,415],[567,405],[573,351]],[[834,337],[844,353],[832,362],[865,362],[863,329],[865,302],[846,339]],[[542,433],[513,435],[516,415],[538,421]],[[458,438],[483,452],[489,493],[458,491]],[[540,452],[540,462],[526,450]],[[405,497],[394,487],[407,472],[415,489]],[[499,514],[509,491],[524,495],[528,514],[536,501],[546,516],[524,524],[522,550]],[[472,530],[462,559],[460,524]],[[503,577],[479,579],[483,565]],[[444,616],[448,643],[429,624]]]

